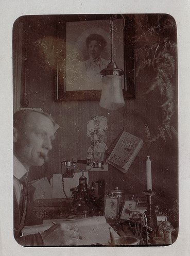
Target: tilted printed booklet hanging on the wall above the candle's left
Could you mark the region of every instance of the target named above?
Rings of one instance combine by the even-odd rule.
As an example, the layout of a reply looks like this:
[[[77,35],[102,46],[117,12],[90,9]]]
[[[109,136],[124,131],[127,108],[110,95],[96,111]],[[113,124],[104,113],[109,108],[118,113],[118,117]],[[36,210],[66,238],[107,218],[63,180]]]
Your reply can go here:
[[[106,161],[123,173],[127,173],[142,146],[143,141],[140,138],[123,131],[108,149],[109,157]]]

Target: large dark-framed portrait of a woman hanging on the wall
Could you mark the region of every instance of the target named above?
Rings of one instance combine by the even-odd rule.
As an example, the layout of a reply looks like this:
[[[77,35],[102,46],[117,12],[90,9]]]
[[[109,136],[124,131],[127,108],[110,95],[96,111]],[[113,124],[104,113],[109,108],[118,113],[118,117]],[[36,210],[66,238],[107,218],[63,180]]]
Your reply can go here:
[[[58,59],[56,100],[99,100],[102,89],[100,71],[106,69],[111,59],[124,71],[124,98],[135,98],[133,47],[129,47],[130,36],[126,31],[128,18],[118,15],[118,19],[114,20],[114,27],[120,32],[113,32],[112,43],[110,15],[68,16],[63,28],[58,26],[57,31],[58,37],[60,33],[62,37],[65,35],[65,69],[59,66]]]

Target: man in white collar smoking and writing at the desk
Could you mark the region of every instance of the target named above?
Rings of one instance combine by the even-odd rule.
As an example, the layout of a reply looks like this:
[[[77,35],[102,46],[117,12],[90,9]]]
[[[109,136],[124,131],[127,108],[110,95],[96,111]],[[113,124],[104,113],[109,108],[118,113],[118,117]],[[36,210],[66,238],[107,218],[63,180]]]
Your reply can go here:
[[[44,231],[23,236],[22,229],[32,206],[34,187],[27,181],[31,166],[42,166],[48,159],[55,138],[54,123],[48,114],[31,109],[16,112],[13,117],[13,211],[14,237],[24,246],[76,245],[78,228],[56,224]]]

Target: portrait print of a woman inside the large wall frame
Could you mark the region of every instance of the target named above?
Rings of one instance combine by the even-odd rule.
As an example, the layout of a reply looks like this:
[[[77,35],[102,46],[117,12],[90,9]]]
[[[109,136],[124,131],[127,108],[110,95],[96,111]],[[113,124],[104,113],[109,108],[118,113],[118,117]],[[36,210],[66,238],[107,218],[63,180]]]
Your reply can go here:
[[[119,36],[118,36],[119,35]],[[113,59],[124,69],[123,33],[115,35]],[[101,90],[100,71],[111,61],[108,20],[66,24],[66,91]]]

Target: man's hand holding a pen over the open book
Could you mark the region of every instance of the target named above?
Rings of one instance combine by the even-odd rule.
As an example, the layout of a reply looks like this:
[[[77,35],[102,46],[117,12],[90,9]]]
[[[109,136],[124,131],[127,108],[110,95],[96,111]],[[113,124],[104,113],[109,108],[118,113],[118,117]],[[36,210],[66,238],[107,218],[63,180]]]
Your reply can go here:
[[[42,234],[44,245],[77,245],[78,228],[73,224],[55,224]]]

